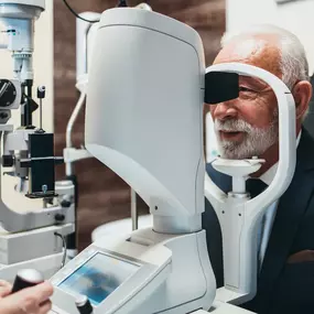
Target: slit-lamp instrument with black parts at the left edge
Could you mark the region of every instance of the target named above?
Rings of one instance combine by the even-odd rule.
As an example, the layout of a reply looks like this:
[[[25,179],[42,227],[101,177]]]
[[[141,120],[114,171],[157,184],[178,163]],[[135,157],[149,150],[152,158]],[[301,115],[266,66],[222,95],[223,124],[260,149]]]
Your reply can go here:
[[[74,186],[55,182],[54,136],[34,126],[39,108],[33,97],[33,52],[36,19],[45,10],[44,0],[0,0],[0,22],[4,40],[1,48],[11,52],[12,78],[0,79],[0,133],[4,174],[19,180],[17,191],[32,199],[43,199],[41,210],[15,212],[1,198],[0,277],[13,281],[20,269],[37,269],[50,278],[61,268],[66,251],[55,234],[74,231]],[[42,104],[45,87],[37,89]],[[11,110],[21,110],[21,126],[10,124]],[[41,113],[42,116],[42,113]],[[28,248],[28,249],[22,249]]]

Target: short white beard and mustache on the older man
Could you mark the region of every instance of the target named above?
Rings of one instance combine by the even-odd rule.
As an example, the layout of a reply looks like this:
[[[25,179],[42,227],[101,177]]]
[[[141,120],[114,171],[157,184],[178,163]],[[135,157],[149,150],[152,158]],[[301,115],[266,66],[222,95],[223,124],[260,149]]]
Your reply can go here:
[[[245,139],[241,142],[223,140],[219,131],[245,132]],[[221,158],[240,160],[260,156],[279,140],[278,111],[274,112],[270,127],[266,129],[252,127],[241,119],[216,119],[215,132]]]

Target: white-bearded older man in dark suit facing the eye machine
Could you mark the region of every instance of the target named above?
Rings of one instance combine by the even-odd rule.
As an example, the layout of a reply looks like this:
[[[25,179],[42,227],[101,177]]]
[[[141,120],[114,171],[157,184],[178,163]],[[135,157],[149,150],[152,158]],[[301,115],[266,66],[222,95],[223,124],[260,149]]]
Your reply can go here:
[[[293,181],[279,202],[268,208],[259,234],[258,292],[242,306],[259,314],[314,311],[314,141],[302,121],[312,96],[308,66],[300,41],[282,29],[260,25],[227,39],[215,64],[240,62],[261,67],[281,78],[295,100],[297,162]],[[253,77],[240,77],[239,97],[210,106],[223,158],[258,155],[266,163],[247,182],[251,196],[274,177],[279,160],[278,104],[272,89]],[[225,192],[230,177],[207,173]],[[203,226],[218,286],[224,285],[221,231],[206,201]]]

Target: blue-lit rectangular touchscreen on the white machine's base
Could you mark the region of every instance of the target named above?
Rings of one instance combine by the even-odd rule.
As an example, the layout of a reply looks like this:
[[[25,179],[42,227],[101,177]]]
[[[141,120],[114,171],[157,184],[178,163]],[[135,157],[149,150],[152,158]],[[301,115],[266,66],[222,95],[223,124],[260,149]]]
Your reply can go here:
[[[98,305],[139,268],[134,263],[97,253],[58,286],[73,295],[84,294],[93,305]]]

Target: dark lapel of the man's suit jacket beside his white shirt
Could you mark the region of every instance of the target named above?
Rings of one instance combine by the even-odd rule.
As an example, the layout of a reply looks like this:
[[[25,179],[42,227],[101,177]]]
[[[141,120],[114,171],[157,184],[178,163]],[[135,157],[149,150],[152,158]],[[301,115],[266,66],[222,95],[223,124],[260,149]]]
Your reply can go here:
[[[267,306],[271,296],[271,288],[280,275],[290,255],[299,225],[306,212],[314,190],[314,142],[303,130],[297,149],[297,163],[293,180],[280,198],[277,216],[266,251],[257,301]],[[312,171],[311,171],[312,170]]]

